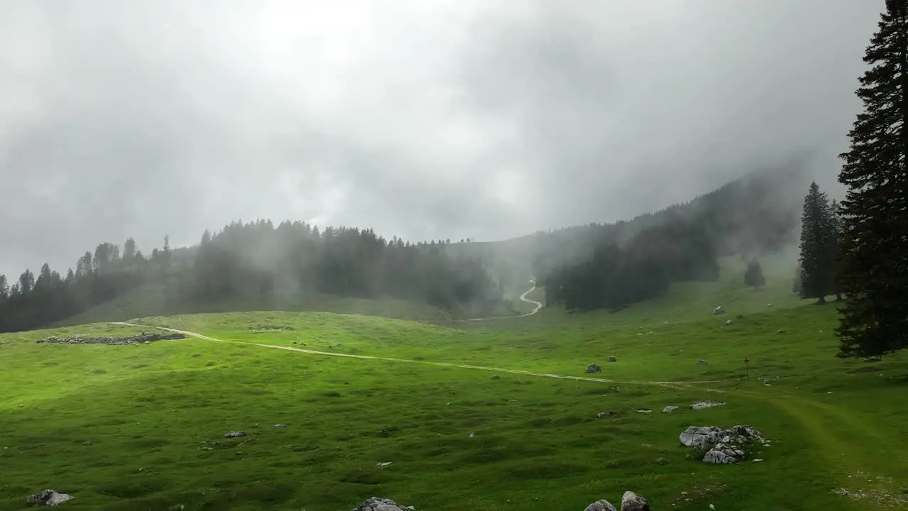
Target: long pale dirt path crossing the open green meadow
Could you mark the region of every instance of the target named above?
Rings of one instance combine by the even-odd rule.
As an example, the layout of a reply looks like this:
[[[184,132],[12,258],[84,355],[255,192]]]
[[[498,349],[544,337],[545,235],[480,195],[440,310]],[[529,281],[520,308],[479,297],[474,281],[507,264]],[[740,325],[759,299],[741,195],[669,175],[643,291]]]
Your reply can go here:
[[[537,302],[538,303],[538,302]],[[259,343],[250,343],[246,341],[230,341],[225,339],[218,339],[211,336],[204,336],[202,334],[197,334],[195,332],[190,332],[188,330],[178,330],[176,328],[168,328],[166,326],[151,326],[151,325],[138,325],[135,323],[125,323],[125,322],[114,322],[112,325],[122,325],[122,326],[138,326],[140,328],[157,328],[159,330],[164,330],[166,332],[173,332],[174,334],[183,334],[183,336],[192,336],[199,339],[204,339],[206,341],[214,341],[218,343],[232,343],[237,345],[248,345],[248,346],[259,346],[271,349],[283,349],[287,351],[295,351],[299,353],[305,353],[309,355],[319,355],[319,356],[342,356],[345,358],[360,358],[363,360],[382,360],[386,362],[398,362],[403,364],[421,364],[424,366],[439,366],[439,367],[456,367],[459,369],[475,369],[479,371],[491,371],[495,373],[509,373],[512,375],[526,375],[526,376],[538,376],[545,378],[558,378],[562,380],[576,380],[576,381],[587,381],[587,382],[600,382],[600,383],[612,383],[612,384],[622,384],[622,385],[657,385],[657,386],[685,386],[689,384],[708,384],[708,383],[717,383],[716,380],[712,381],[693,381],[693,382],[657,382],[657,381],[637,381],[637,380],[627,380],[619,381],[612,380],[608,378],[594,378],[591,376],[564,376],[564,375],[555,375],[552,373],[537,373],[534,371],[522,371],[520,369],[505,369],[502,367],[489,367],[489,366],[471,366],[469,364],[451,364],[449,362],[430,362],[428,360],[410,360],[408,358],[395,358],[391,356],[369,356],[369,355],[350,355],[347,353],[333,353],[330,351],[318,351],[314,349],[304,349],[300,347],[293,346],[279,346],[279,345],[263,345]]]

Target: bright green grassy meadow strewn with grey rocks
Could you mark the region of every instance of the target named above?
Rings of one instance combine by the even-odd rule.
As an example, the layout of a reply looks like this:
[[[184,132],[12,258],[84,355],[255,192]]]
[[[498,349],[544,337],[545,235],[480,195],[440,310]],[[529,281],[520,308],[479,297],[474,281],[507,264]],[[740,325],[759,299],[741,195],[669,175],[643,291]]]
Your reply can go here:
[[[0,509],[44,488],[97,510],[334,511],[383,496],[418,510],[579,511],[627,489],[656,509],[908,508],[908,356],[836,358],[834,304],[791,296],[790,267],[772,267],[762,290],[726,261],[719,282],[617,313],[269,311],[2,335]],[[728,314],[712,316],[720,305]],[[35,343],[153,326],[228,342]],[[603,371],[583,379],[591,363]],[[704,400],[725,406],[689,408]],[[668,405],[680,408],[660,413]],[[736,424],[772,440],[751,456],[762,462],[710,466],[678,443],[686,426]]]

